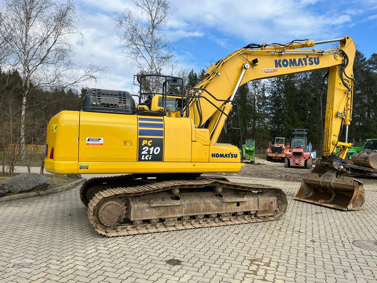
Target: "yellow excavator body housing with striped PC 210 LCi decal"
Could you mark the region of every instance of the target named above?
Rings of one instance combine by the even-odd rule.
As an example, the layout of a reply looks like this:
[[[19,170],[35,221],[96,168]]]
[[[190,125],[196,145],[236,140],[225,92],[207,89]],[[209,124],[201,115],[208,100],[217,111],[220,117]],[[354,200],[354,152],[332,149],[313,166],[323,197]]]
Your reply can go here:
[[[219,156],[238,149],[209,146],[208,129],[195,129],[191,118],[62,111],[48,129],[44,166],[56,174],[237,172],[243,165],[239,156],[208,164],[210,148]]]

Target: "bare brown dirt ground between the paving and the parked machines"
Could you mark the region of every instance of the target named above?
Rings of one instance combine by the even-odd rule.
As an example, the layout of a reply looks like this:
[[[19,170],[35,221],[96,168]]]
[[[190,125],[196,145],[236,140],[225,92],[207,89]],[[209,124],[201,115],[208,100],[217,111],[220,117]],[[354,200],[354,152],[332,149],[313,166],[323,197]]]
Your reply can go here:
[[[255,158],[255,164],[245,162],[245,165],[241,167],[241,170],[237,173],[225,173],[225,175],[239,175],[244,177],[260,177],[260,178],[274,178],[274,179],[288,179],[292,181],[301,182],[303,177],[306,177],[308,173],[314,168],[314,164],[311,169],[306,168],[285,168],[284,162],[267,161],[261,158]],[[352,176],[364,183],[377,183],[377,176],[374,178],[365,178],[365,176]]]

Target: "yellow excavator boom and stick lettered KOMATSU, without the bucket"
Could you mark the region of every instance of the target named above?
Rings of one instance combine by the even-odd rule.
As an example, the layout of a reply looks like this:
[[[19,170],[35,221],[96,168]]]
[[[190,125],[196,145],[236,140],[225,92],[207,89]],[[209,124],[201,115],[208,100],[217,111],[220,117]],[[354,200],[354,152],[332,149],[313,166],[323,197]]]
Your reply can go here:
[[[340,42],[340,47],[327,50],[301,49],[329,42]],[[193,118],[196,127],[210,130],[211,144],[215,145],[227,118],[225,114],[229,114],[232,108],[231,102],[224,103],[221,100],[233,100],[239,86],[251,80],[328,68],[322,156],[329,158],[336,146],[340,146],[338,156],[345,158],[352,145],[347,140],[340,142],[339,132],[342,125],[348,126],[351,122],[355,51],[355,43],[349,36],[325,42],[307,40],[287,45],[264,43],[245,46],[212,65],[205,73],[204,80],[190,89],[190,95],[204,96],[206,99],[193,98],[190,101],[187,106],[190,109],[189,117]]]

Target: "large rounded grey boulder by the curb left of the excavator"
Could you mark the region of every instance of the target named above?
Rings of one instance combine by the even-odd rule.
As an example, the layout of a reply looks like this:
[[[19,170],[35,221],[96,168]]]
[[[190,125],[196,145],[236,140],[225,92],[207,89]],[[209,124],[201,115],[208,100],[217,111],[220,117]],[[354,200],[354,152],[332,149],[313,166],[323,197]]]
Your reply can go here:
[[[19,174],[4,184],[6,192],[27,192],[45,189],[50,185],[50,179],[37,173]]]

